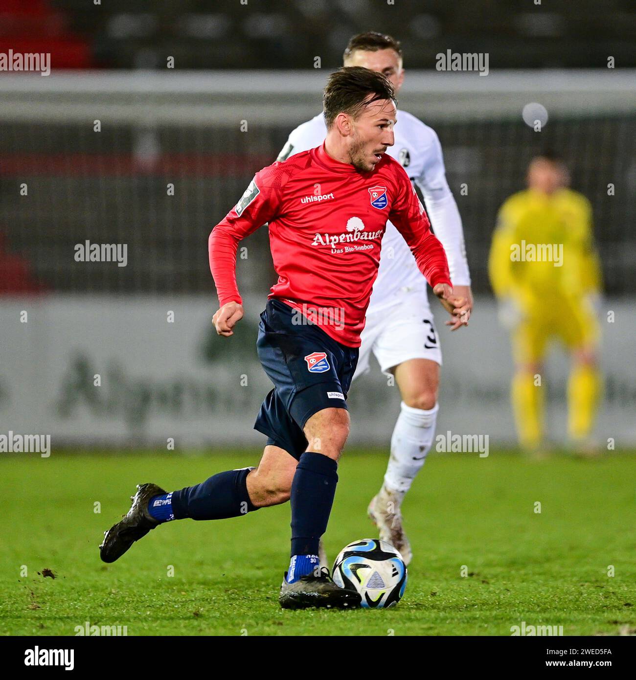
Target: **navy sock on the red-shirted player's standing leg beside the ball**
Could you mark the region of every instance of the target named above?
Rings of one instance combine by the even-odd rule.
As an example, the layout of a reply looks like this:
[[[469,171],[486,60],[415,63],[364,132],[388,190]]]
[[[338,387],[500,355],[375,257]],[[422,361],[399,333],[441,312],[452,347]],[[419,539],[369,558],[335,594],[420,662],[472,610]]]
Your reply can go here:
[[[292,506],[291,556],[318,555],[320,537],[327,530],[338,481],[335,460],[306,451],[296,468]]]

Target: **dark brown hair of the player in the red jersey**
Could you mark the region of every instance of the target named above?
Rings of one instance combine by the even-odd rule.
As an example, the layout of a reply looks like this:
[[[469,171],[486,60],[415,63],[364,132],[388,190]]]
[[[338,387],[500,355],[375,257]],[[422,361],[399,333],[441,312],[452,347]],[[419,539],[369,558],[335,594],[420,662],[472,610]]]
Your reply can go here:
[[[393,86],[382,73],[361,66],[343,66],[329,76],[322,92],[327,129],[331,128],[338,114],[357,118],[365,106],[382,99],[392,99],[397,104]]]

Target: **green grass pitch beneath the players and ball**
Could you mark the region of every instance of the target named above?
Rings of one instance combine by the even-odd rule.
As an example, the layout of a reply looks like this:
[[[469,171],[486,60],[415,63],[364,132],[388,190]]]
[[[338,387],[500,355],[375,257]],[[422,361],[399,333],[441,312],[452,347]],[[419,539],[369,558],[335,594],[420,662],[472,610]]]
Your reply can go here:
[[[257,460],[257,452],[4,456],[0,633],[73,635],[86,621],[129,635],[509,635],[522,621],[588,635],[636,626],[633,453],[541,462],[431,455],[404,505],[415,554],[405,596],[386,611],[280,609],[288,504],[171,522],[118,562],[99,560],[102,532],[127,511],[135,483],[181,488]],[[344,456],[331,558],[374,536],[365,510],[385,464],[382,452]],[[37,573],[44,568],[56,578]]]

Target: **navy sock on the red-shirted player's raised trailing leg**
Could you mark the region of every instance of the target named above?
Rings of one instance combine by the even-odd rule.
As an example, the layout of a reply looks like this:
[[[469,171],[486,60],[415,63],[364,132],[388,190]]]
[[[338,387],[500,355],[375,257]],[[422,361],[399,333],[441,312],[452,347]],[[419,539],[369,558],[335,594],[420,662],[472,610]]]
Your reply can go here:
[[[256,507],[248,494],[247,477],[250,470],[228,470],[210,477],[195,486],[172,494],[175,520],[225,520],[245,515]]]

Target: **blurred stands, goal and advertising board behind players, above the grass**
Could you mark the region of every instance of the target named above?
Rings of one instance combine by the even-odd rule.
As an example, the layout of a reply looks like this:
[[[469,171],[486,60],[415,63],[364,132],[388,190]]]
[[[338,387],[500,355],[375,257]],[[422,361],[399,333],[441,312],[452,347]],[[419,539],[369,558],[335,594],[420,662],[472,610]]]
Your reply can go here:
[[[350,35],[370,29],[403,43],[400,107],[441,139],[473,277],[469,329],[446,333],[436,312],[438,432],[452,423],[514,439],[512,362],[487,254],[499,205],[522,188],[533,153],[551,146],[592,201],[603,262],[597,437],[636,441],[636,13],[618,0],[580,1],[575,17],[565,1],[0,0],[0,52],[49,52],[52,66],[46,78],[0,73],[3,432],[50,433],[53,448],[261,443],[251,427],[269,390],[254,352],[274,280],[267,231],[241,244],[247,317],[231,341],[210,323],[207,236],[320,110]],[[446,50],[486,52],[488,75],[435,71]],[[535,102],[548,111],[541,132],[522,120]],[[87,240],[127,244],[127,266],[76,262]],[[546,371],[556,441],[566,374],[557,351]],[[386,445],[397,388],[372,371],[351,404],[352,443]]]

